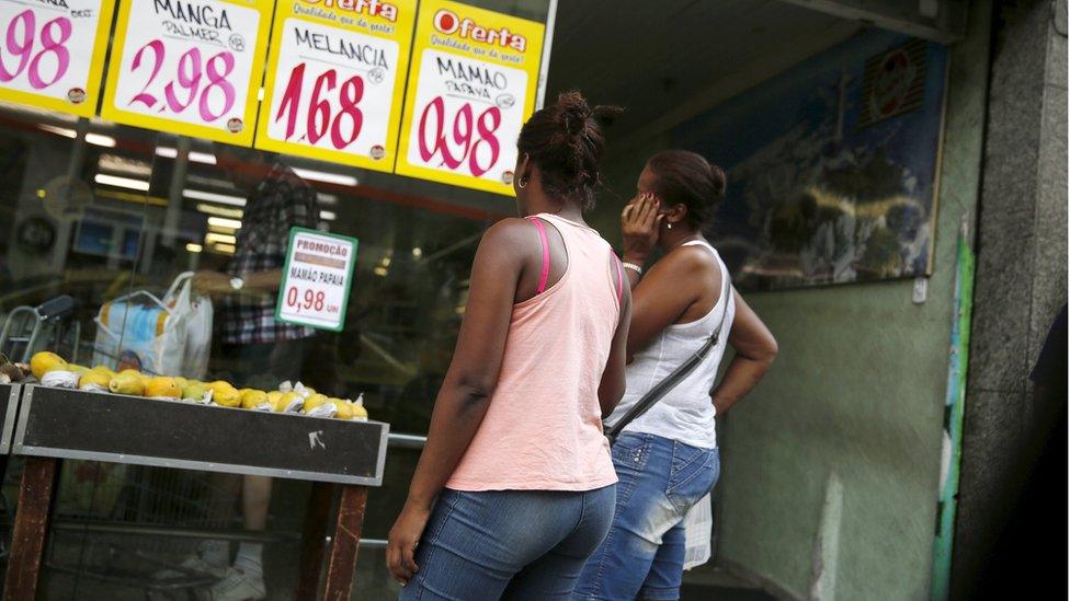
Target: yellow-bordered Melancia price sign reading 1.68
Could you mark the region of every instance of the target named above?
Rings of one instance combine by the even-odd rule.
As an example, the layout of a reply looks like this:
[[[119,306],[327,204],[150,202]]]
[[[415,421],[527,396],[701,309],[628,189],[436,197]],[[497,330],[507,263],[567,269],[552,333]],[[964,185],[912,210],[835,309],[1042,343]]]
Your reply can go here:
[[[417,0],[287,0],[275,13],[257,148],[389,172]]]

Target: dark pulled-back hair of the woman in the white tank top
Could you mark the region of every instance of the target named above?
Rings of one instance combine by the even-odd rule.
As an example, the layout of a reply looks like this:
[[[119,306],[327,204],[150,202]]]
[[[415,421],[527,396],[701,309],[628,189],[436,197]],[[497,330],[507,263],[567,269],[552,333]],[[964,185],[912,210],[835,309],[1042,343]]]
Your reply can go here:
[[[653,192],[668,206],[687,207],[687,223],[708,228],[717,206],[725,198],[725,171],[702,154],[687,150],[664,150],[647,161],[654,175]]]

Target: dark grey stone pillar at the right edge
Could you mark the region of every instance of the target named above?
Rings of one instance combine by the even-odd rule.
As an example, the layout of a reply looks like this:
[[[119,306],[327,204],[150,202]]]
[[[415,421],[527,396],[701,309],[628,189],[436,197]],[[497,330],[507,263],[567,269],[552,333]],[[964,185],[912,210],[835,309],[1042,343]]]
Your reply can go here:
[[[991,77],[955,596],[984,569],[1046,426],[1028,374],[1067,301],[1065,0],[1005,3]]]

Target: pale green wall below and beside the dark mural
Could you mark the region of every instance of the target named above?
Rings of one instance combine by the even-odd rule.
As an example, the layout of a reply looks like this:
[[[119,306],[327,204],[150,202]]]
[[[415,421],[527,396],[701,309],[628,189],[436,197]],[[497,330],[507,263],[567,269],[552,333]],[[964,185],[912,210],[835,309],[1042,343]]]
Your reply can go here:
[[[719,557],[794,597],[929,594],[955,243],[979,189],[990,11],[978,4],[952,50],[929,300],[911,301],[911,281],[747,297],[781,356],[718,420]],[[619,198],[665,143],[651,135],[622,150],[611,137]],[[619,204],[603,203],[594,221],[615,233]]]

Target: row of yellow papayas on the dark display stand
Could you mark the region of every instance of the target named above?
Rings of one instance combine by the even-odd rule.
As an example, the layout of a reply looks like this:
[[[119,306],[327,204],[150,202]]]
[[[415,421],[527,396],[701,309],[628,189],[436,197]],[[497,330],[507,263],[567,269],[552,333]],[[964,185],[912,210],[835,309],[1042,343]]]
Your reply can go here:
[[[338,398],[301,382],[285,381],[272,391],[239,390],[225,380],[202,382],[181,375],[141,373],[136,369],[116,373],[106,366],[68,363],[50,351],[35,354],[29,366],[11,363],[0,354],[0,382],[22,382],[31,375],[50,388],[343,420],[366,421],[368,418],[363,394],[356,401]]]

